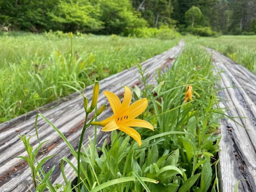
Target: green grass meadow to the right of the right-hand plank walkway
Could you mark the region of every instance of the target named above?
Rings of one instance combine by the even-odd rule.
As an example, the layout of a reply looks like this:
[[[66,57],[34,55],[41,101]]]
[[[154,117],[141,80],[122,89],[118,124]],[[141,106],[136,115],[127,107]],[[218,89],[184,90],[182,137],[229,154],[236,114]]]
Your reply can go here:
[[[256,35],[189,36],[185,39],[215,49],[256,73]]]

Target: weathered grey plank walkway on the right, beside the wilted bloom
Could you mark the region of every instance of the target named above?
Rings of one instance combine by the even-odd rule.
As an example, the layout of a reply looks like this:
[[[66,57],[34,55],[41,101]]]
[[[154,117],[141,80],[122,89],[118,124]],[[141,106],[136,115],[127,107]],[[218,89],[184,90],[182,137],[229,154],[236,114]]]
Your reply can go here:
[[[212,53],[215,71],[221,76],[219,106],[233,117],[221,119],[221,142],[219,152],[221,189],[233,192],[240,179],[238,191],[256,191],[256,75],[236,64],[221,53]],[[243,127],[241,127],[240,125]]]

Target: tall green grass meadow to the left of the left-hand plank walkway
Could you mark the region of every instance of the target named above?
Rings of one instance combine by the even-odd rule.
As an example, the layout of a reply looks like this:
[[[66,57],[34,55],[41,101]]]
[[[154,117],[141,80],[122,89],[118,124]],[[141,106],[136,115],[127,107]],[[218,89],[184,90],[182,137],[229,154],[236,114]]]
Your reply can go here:
[[[82,90],[174,46],[178,39],[116,35],[0,35],[0,123]]]

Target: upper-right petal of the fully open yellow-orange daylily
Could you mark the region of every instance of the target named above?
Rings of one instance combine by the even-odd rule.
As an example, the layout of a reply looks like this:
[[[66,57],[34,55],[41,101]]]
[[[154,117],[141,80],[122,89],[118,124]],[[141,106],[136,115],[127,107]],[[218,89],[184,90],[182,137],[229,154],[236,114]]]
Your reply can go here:
[[[132,120],[135,117],[138,117],[146,108],[147,99],[143,98],[132,103],[125,113],[128,114],[128,119]]]

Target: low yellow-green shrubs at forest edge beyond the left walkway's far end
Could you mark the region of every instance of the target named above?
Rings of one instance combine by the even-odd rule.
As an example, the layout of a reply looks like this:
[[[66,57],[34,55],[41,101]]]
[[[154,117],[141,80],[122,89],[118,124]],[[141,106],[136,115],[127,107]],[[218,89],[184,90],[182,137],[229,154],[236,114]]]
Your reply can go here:
[[[129,29],[125,31],[125,35],[131,35],[132,37],[140,38],[159,38],[159,39],[174,39],[180,37],[175,29],[167,26],[162,26],[159,29],[151,27],[141,27],[136,29]]]

